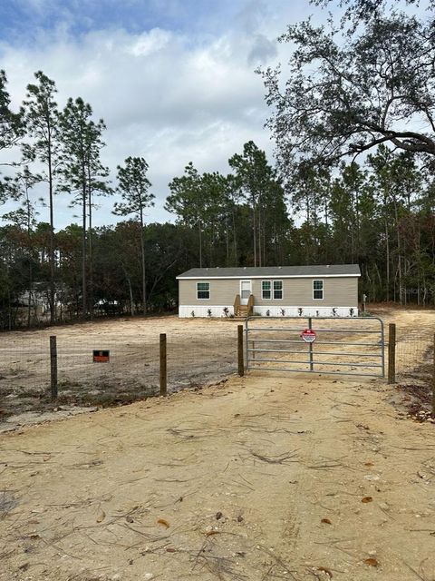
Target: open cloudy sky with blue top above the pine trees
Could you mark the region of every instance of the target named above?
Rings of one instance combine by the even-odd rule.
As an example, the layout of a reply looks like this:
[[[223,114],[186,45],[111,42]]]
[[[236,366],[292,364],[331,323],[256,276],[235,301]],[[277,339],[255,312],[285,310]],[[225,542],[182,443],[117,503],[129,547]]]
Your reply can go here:
[[[157,198],[148,220],[163,222],[173,220],[168,183],[188,162],[228,172],[248,140],[272,161],[254,71],[285,63],[276,37],[313,10],[308,0],[2,0],[0,68],[15,107],[37,70],[55,81],[61,107],[70,96],[91,103],[108,127],[112,180],[127,156],[143,156]],[[102,199],[95,225],[116,222],[112,202]],[[67,206],[56,198],[57,228],[77,221]]]

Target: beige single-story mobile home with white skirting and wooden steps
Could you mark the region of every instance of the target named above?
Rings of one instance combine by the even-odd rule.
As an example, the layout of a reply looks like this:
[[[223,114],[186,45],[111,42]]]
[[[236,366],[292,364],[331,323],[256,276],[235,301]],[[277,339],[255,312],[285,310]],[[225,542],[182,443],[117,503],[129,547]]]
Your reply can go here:
[[[358,264],[190,269],[179,317],[355,317]]]

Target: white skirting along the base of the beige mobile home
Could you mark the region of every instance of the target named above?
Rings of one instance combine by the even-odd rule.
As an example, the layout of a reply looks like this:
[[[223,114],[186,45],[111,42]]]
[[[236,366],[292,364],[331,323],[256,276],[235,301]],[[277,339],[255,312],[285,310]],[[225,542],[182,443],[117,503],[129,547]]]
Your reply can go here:
[[[226,305],[182,305],[179,317],[229,317],[234,307]],[[261,317],[358,317],[358,307],[259,307],[254,314]]]

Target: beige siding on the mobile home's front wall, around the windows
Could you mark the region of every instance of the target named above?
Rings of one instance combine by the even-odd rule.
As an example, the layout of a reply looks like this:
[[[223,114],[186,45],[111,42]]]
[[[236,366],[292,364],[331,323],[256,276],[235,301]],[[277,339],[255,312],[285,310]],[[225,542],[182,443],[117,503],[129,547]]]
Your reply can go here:
[[[240,294],[240,281],[249,279],[198,279],[179,281],[180,305],[219,305],[231,306],[236,295]],[[261,298],[262,281],[283,281],[283,299]],[[324,281],[324,299],[313,299],[313,281]],[[197,282],[210,283],[210,298],[197,299]],[[294,307],[356,307],[358,305],[358,278],[322,278],[310,279],[252,279],[254,304],[258,306],[294,306]],[[273,296],[273,291],[272,291]]]

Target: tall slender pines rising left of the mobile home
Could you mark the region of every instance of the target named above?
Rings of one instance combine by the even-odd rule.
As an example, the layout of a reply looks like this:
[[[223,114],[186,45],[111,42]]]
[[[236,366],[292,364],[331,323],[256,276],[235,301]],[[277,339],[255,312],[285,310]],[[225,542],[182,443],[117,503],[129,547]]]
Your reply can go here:
[[[4,252],[1,256],[2,279],[5,282],[1,300],[4,305],[5,301],[8,305],[7,324],[9,327],[15,324],[16,316],[12,314],[11,305],[23,301],[24,290],[15,288],[14,276],[11,274],[14,272],[15,259],[26,264],[24,286],[27,292],[28,325],[31,324],[31,302],[34,302],[35,292],[41,302],[45,299],[50,311],[49,320],[53,323],[57,320],[58,307],[65,306],[61,297],[71,291],[61,276],[64,261],[60,242],[62,233],[54,231],[55,195],[59,193],[70,195],[70,206],[78,206],[82,217],[81,251],[77,257],[81,264],[81,275],[80,281],[76,278],[74,282],[75,285],[80,284],[81,304],[79,307],[75,303],[76,316],[92,317],[95,304],[95,230],[92,227],[95,199],[115,192],[121,194],[122,202],[114,204],[113,213],[132,215],[141,227],[141,309],[145,313],[144,212],[154,203],[147,178],[148,163],[140,157],[128,157],[118,166],[118,184],[112,187],[109,168],[102,164],[101,159],[102,148],[105,146],[102,135],[106,129],[103,120],[92,118],[92,106],[81,97],[69,98],[63,109],[60,109],[55,101],[57,90],[54,81],[42,71],[35,73],[34,77],[34,84],[27,85],[26,97],[20,110],[14,112],[10,106],[5,71],[0,72],[0,153],[6,160],[4,150],[19,150],[19,161],[3,162],[3,165],[10,165],[14,172],[4,176],[0,182],[0,203],[8,200],[18,202],[17,209],[2,217],[2,221],[9,224],[5,226],[5,237],[2,237]],[[35,192],[40,192],[43,186],[45,192],[39,202],[48,206],[48,223],[38,222],[36,218],[38,201]],[[21,240],[18,245],[17,240]],[[23,278],[23,267],[19,270]],[[74,294],[78,296],[77,288]]]

